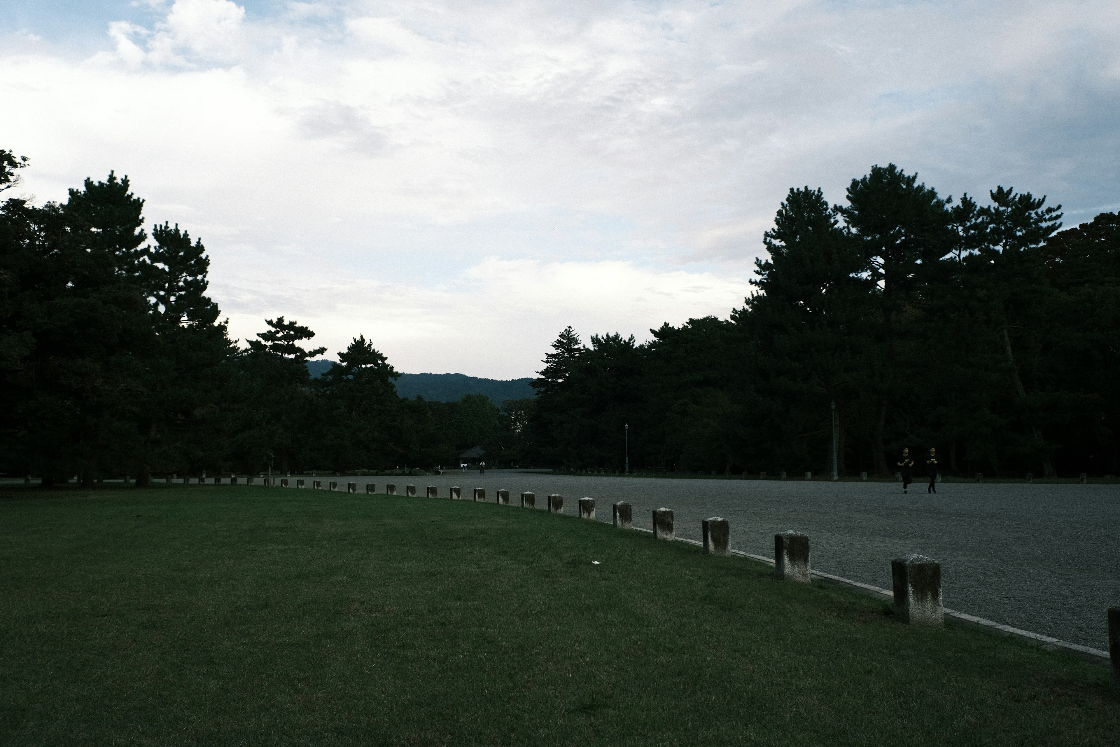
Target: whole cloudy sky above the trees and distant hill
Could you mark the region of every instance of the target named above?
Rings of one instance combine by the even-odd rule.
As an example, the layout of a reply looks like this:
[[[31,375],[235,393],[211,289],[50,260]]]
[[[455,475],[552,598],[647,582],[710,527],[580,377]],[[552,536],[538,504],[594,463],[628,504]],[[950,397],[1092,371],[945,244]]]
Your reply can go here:
[[[514,379],[726,318],[791,187],[1117,211],[1118,38],[1114,0],[0,0],[0,148],[37,204],[128,175],[241,340]]]

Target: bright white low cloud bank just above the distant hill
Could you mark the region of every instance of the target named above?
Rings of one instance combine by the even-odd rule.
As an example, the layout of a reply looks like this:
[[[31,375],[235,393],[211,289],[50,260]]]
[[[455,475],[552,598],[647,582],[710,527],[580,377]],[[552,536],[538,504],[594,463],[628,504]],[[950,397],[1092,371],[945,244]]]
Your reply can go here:
[[[429,283],[360,277],[254,282],[220,276],[212,290],[242,339],[277,314],[296,317],[317,345],[345,349],[360,334],[403,371],[454,370],[475,376],[531,375],[566,326],[588,339],[620,332],[640,340],[663,321],[722,316],[749,292],[744,277],[659,271],[632,262],[541,262],[485,258]],[[334,355],[332,353],[330,355]],[[520,372],[520,373],[517,373]]]

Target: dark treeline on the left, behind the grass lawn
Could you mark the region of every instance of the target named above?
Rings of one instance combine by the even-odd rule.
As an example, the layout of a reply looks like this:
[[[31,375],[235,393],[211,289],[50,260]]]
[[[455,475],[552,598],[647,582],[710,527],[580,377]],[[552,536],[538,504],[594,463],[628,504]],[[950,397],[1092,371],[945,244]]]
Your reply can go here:
[[[0,150],[0,192],[26,159]],[[7,195],[4,195],[7,197]],[[483,395],[396,395],[364,337],[311,379],[314,333],[283,317],[248,347],[206,296],[200,241],[142,230],[143,200],[110,174],[64,204],[0,203],[0,471],[75,475],[354,470],[455,464],[503,450],[508,417]]]

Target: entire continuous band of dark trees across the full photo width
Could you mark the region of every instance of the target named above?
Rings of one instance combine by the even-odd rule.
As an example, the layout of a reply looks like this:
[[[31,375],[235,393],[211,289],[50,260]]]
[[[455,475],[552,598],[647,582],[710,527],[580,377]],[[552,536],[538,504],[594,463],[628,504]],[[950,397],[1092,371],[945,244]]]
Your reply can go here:
[[[0,192],[26,166],[0,150]],[[430,467],[473,446],[492,465],[619,468],[626,424],[632,467],[823,471],[834,403],[846,474],[889,474],[903,446],[931,445],[955,474],[1116,474],[1120,217],[1060,220],[1002,187],[942,198],[895,166],[853,179],[841,205],[791,189],[756,292],[728,318],[665,324],[646,344],[568,328],[536,398],[500,409],[400,396],[364,336],[315,379],[323,348],[296,320],[230,339],[202,242],[166,223],[149,235],[128,178],[41,207],[9,197],[0,471],[143,485]]]

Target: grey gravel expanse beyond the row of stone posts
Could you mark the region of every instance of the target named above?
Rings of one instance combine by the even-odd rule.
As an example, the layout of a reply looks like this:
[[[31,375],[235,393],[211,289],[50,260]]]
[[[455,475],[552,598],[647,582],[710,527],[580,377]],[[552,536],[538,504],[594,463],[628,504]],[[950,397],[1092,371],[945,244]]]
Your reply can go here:
[[[349,478],[360,485],[385,477]],[[345,480],[343,480],[345,482]],[[699,540],[700,522],[722,516],[731,547],[773,557],[774,534],[797,530],[810,536],[813,568],[890,588],[890,559],[917,552],[941,562],[945,606],[971,615],[1108,650],[1105,610],[1120,606],[1120,487],[943,483],[903,495],[897,483],[804,480],[659,479],[541,475],[489,470],[396,478],[399,491],[414,483],[423,495],[437,485],[522,491],[564,496],[576,515],[582,496],[596,499],[596,519],[610,522],[610,504],[634,506],[634,524],[651,527],[654,508],[674,512],[678,536]],[[914,489],[917,488],[917,489]],[[360,487],[360,489],[364,489]]]

